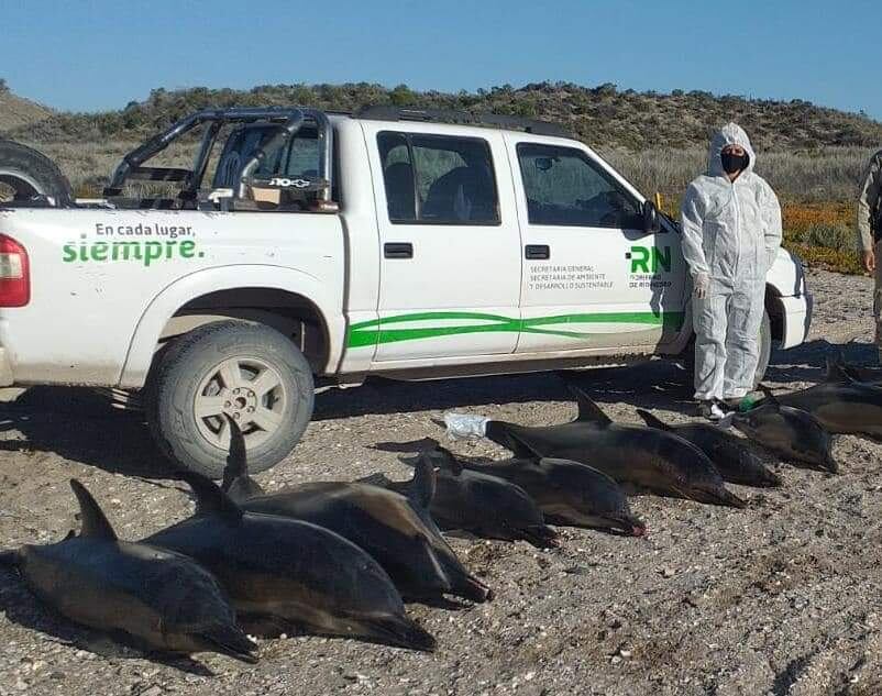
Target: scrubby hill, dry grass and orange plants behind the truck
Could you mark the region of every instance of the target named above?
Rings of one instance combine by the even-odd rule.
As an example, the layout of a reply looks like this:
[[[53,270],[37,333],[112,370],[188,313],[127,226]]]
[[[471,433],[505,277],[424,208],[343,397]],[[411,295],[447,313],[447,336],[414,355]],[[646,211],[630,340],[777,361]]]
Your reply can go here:
[[[504,85],[457,93],[367,82],[263,85],[245,91],[155,89],[146,100],[117,111],[58,113],[15,97],[0,79],[0,136],[43,151],[67,174],[77,195],[95,196],[125,152],[192,111],[290,104],[338,111],[363,104],[414,106],[556,121],[643,194],[660,192],[663,209],[674,217],[688,181],[706,167],[710,133],[726,121],[736,121],[760,153],[758,173],[785,203],[785,244],[812,263],[849,273],[859,272],[853,253],[853,198],[867,159],[882,146],[882,123],[802,100],[683,90],[663,95],[620,90],[611,84],[591,88],[570,82]],[[187,165],[195,143],[195,139],[176,143],[163,153],[162,164]],[[835,219],[819,213],[822,209],[837,211]],[[814,220],[816,214],[823,220]],[[814,222],[806,222],[809,218]]]

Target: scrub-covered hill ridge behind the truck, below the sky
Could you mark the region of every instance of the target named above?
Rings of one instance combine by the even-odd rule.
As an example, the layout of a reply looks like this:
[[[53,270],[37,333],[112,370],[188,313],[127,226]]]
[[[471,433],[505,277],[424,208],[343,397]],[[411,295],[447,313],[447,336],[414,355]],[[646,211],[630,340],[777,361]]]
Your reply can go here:
[[[604,150],[705,146],[709,132],[728,120],[745,126],[762,150],[816,150],[882,144],[882,123],[862,114],[802,100],[753,100],[674,90],[670,95],[540,82],[476,92],[417,92],[365,82],[265,85],[251,90],[194,88],[153,90],[145,101],[100,113],[47,113],[11,95],[0,96],[0,131],[31,142],[140,141],[187,113],[206,107],[305,104],[349,111],[365,103],[493,111],[558,121],[581,140]],[[29,115],[25,104],[34,110]],[[43,109],[43,111],[40,111]],[[18,115],[16,115],[18,114]],[[46,118],[47,117],[47,118]]]

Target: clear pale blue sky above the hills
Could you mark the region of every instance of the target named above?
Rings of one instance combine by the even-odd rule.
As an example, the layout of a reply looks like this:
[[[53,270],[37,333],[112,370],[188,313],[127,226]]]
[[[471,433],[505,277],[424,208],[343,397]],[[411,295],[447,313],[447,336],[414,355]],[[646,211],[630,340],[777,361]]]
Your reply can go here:
[[[155,87],[566,80],[882,120],[879,0],[0,0],[0,77],[60,109],[117,109]]]

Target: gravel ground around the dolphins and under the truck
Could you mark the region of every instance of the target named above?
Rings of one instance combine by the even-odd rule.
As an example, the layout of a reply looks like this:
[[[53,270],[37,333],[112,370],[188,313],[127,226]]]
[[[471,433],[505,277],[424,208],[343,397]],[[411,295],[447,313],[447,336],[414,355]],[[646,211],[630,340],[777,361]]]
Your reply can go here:
[[[857,338],[849,360],[873,358],[870,280],[812,272],[809,283],[812,339],[774,356],[771,385],[819,379],[825,340]],[[611,417],[639,422],[638,406],[690,416],[682,375],[655,361],[576,379]],[[258,479],[275,488],[377,471],[404,478],[396,455],[372,445],[438,437],[432,419],[452,409],[533,424],[574,412],[553,374],[328,391],[293,456]],[[0,431],[2,546],[77,528],[71,476],[124,539],[191,509],[179,484],[156,478],[139,419],[82,394],[26,391],[0,405]],[[451,446],[503,454],[483,442]],[[73,627],[0,571],[0,694],[882,694],[880,446],[840,438],[838,476],[772,461],[784,485],[732,487],[749,499],[745,510],[636,497],[642,539],[563,529],[551,552],[454,539],[496,599],[455,611],[410,606],[438,638],[433,654],[288,638],[261,641],[257,665],[213,654],[163,662]]]

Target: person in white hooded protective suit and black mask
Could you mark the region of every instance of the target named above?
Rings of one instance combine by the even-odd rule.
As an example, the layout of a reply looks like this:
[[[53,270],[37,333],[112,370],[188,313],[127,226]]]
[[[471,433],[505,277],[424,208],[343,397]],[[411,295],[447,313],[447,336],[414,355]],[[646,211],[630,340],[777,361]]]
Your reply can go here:
[[[753,173],[747,133],[728,123],[710,141],[707,174],[686,189],[683,256],[693,279],[695,398],[718,419],[753,389],[765,275],[781,245],[781,207]]]

